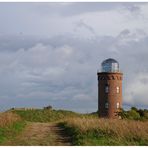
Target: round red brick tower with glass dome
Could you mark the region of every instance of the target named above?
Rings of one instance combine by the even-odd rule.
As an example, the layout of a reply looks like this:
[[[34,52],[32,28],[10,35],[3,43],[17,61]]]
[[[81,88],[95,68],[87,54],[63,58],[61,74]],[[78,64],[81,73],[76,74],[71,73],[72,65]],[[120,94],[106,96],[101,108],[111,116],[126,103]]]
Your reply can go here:
[[[122,107],[122,76],[119,63],[106,59],[98,72],[98,111],[100,117],[118,118],[117,112]]]

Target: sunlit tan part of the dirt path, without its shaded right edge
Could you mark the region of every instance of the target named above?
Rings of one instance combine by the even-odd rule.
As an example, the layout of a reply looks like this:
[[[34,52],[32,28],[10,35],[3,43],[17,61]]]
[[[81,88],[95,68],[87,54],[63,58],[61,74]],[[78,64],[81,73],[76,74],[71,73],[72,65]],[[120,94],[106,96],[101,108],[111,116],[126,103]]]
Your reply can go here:
[[[51,124],[52,125],[52,124]],[[10,139],[5,145],[39,146],[57,145],[56,134],[49,130],[49,123],[29,122],[27,128],[19,136]],[[56,143],[55,143],[56,142]]]

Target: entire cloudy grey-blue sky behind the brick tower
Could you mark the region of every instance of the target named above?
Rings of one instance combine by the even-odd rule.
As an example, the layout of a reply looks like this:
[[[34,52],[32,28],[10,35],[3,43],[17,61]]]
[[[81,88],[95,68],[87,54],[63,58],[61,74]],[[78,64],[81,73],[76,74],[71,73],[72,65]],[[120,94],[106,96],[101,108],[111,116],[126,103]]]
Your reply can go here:
[[[148,3],[0,3],[0,110],[97,110],[97,70],[115,58],[123,107],[148,108]]]

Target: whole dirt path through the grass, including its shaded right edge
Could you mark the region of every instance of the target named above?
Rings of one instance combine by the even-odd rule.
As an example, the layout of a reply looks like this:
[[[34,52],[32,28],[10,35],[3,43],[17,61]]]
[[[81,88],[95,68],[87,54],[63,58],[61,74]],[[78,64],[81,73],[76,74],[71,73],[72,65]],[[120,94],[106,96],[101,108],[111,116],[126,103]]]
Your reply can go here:
[[[4,145],[68,146],[71,143],[70,137],[56,123],[30,122],[21,134]]]

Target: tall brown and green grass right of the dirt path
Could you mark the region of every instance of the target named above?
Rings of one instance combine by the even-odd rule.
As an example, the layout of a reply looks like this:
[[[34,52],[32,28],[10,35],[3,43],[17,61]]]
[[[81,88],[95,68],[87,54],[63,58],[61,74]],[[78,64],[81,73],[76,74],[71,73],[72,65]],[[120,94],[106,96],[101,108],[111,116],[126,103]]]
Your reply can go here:
[[[59,124],[73,145],[148,145],[148,121],[71,118]]]

